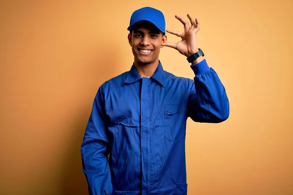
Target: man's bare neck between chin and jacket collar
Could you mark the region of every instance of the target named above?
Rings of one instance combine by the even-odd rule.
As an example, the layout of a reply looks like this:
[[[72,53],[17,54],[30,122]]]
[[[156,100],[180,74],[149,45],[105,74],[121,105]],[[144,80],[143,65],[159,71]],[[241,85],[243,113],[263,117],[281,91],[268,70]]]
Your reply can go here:
[[[152,63],[142,63],[134,60],[134,66],[141,77],[151,77],[159,65],[159,59]]]

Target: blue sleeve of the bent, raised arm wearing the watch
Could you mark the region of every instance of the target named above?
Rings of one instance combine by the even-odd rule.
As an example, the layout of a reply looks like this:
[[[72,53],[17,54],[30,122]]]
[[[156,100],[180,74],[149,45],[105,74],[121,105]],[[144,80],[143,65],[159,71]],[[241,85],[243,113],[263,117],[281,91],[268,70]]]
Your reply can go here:
[[[189,85],[187,112],[195,122],[219,123],[230,114],[225,87],[206,59],[190,66],[196,75]]]

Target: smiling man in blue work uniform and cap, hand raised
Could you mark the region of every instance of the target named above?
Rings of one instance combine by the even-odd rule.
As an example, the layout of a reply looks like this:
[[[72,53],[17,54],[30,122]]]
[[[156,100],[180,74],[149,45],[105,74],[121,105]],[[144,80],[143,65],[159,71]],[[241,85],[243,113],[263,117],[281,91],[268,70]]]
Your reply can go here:
[[[170,43],[161,11],[144,7],[131,16],[134,63],[100,86],[81,147],[90,195],[187,195],[187,118],[219,123],[229,117],[225,88],[197,46],[198,20],[188,15],[189,26],[176,19],[185,31],[167,30],[182,38]],[[163,46],[188,58],[194,79],[163,70]]]

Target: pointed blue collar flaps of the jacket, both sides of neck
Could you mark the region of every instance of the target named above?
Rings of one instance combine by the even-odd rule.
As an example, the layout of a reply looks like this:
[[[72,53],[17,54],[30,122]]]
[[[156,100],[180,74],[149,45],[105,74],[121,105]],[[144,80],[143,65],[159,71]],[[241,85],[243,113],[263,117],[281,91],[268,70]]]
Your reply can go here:
[[[164,78],[164,69],[163,69],[163,66],[162,66],[160,60],[159,60],[159,65],[158,65],[155,73],[150,78],[153,78],[156,81],[158,81],[163,87],[166,86],[165,78]],[[133,82],[135,82],[135,81],[137,81],[139,79],[141,79],[141,76],[136,71],[136,68],[135,68],[134,64],[132,64],[131,69],[129,71],[129,74],[128,74],[125,82],[126,83],[133,83]]]

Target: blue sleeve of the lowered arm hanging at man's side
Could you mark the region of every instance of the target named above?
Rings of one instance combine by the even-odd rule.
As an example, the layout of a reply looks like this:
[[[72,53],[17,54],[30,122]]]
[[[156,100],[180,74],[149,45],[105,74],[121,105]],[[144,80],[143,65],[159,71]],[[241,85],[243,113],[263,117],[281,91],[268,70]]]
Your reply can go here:
[[[100,87],[93,102],[81,146],[83,170],[88,183],[89,195],[110,195],[112,193],[111,173],[107,158],[109,148],[105,102]]]

